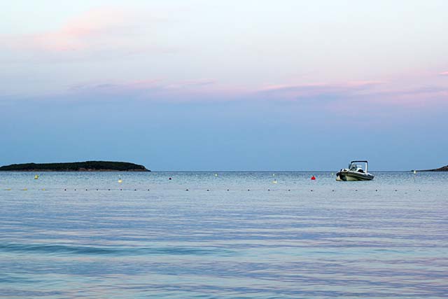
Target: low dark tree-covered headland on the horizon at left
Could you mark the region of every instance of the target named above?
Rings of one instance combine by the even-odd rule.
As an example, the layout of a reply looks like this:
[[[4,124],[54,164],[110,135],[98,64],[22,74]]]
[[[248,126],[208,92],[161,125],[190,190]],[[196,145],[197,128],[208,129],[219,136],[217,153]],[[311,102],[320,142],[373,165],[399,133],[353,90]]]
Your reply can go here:
[[[25,163],[0,167],[9,172],[151,172],[143,165],[129,162],[85,161],[68,163]]]

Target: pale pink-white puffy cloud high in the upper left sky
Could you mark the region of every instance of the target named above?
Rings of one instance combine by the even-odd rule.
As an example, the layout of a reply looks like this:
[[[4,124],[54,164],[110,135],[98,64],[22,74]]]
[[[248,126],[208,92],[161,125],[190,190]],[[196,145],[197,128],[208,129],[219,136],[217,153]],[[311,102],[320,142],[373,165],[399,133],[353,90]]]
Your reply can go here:
[[[148,35],[162,19],[142,15],[121,8],[97,8],[68,20],[62,27],[35,34],[4,35],[3,48],[13,50],[16,57],[22,51],[57,60],[79,59],[94,56],[97,59],[111,54],[133,55],[158,51],[170,53],[174,48],[157,45]]]

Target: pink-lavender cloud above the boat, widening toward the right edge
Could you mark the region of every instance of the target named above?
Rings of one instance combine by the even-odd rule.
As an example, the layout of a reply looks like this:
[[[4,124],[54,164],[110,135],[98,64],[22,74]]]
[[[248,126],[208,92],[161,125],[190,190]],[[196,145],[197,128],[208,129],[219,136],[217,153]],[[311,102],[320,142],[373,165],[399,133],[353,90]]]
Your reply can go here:
[[[388,109],[435,109],[448,106],[448,86],[430,76],[419,82],[400,78],[389,81],[347,81],[267,85],[256,98],[289,101],[349,116],[351,111],[382,113]],[[350,107],[350,109],[347,109]]]

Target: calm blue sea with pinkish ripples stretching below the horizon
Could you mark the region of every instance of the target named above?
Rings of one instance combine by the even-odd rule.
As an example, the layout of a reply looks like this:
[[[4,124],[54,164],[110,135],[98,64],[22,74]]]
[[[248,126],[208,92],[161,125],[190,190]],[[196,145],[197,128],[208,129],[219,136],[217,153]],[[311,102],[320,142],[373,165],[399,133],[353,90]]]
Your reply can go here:
[[[0,298],[448,298],[448,174],[375,176],[0,172]]]

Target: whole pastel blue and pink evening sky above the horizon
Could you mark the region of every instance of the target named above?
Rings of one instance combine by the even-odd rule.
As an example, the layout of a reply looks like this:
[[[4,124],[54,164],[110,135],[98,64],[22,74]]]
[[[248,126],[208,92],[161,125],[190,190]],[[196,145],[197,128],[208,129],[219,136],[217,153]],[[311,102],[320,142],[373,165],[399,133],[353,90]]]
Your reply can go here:
[[[24,1],[0,18],[0,165],[448,164],[448,1]]]

